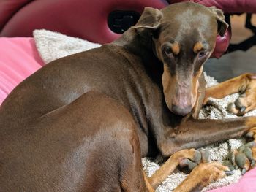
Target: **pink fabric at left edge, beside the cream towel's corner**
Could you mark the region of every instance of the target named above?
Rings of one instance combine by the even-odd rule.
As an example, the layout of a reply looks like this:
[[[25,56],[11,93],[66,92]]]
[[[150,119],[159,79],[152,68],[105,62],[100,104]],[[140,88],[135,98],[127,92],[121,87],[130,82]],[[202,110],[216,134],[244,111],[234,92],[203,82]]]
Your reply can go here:
[[[21,81],[43,66],[33,38],[0,38],[0,104]]]

